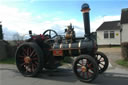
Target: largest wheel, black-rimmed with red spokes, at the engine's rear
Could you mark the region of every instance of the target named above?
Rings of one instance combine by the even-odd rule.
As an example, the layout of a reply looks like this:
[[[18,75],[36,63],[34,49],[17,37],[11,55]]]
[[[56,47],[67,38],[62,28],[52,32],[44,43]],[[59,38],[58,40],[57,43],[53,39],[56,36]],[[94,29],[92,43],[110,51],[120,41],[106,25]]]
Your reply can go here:
[[[36,76],[42,69],[43,54],[35,43],[24,43],[17,48],[16,65],[24,76]]]

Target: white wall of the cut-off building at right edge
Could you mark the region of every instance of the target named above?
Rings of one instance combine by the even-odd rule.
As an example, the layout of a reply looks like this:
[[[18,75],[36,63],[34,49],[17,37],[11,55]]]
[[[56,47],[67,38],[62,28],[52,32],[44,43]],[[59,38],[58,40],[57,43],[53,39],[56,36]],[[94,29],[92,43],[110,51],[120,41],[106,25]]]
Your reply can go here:
[[[128,24],[122,24],[122,42],[128,42]]]

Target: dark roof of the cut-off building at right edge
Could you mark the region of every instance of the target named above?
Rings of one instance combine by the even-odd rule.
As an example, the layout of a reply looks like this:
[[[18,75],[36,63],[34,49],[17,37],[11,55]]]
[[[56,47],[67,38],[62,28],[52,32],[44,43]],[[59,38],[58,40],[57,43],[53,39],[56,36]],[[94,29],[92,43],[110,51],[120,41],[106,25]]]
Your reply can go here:
[[[128,23],[128,8],[122,9],[121,24]]]

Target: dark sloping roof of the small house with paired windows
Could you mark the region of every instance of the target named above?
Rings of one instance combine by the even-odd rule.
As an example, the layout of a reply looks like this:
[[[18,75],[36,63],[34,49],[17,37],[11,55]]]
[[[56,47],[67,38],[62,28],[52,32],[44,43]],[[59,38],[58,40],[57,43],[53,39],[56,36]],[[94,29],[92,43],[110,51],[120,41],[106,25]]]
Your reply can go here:
[[[96,31],[100,30],[120,30],[120,21],[104,22]]]

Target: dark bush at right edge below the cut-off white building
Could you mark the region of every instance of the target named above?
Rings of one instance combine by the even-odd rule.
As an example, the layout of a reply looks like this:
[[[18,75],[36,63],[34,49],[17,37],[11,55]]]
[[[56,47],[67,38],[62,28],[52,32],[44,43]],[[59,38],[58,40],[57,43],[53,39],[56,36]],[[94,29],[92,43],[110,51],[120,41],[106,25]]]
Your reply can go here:
[[[121,44],[121,54],[124,60],[128,60],[128,42]]]

